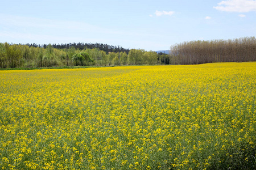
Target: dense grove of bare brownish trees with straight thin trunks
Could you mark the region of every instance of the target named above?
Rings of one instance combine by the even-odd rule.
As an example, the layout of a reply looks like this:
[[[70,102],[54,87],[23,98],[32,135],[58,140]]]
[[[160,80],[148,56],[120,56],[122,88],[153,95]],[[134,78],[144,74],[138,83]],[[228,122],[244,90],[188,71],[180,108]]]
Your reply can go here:
[[[234,40],[189,41],[170,48],[172,64],[256,61],[255,37]]]

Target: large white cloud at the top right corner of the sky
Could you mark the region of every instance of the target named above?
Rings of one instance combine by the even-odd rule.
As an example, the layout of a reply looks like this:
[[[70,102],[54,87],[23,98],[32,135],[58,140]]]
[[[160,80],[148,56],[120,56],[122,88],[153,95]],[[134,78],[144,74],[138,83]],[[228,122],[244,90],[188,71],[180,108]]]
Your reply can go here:
[[[251,0],[228,0],[221,1],[218,6],[214,6],[216,10],[226,12],[250,12],[256,11],[256,1]]]

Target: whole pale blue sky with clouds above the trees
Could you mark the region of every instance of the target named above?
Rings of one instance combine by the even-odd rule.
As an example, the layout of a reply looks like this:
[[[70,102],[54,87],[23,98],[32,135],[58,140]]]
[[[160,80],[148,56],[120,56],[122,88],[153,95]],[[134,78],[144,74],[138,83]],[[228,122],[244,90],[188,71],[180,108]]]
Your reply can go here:
[[[256,1],[2,1],[0,42],[91,42],[167,50],[256,35]]]

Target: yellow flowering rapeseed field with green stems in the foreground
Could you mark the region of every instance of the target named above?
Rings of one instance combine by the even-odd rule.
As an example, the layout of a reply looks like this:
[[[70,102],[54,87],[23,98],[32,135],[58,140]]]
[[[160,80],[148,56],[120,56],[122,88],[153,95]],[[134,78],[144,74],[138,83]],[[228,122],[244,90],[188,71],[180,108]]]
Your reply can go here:
[[[256,62],[0,71],[1,169],[253,169]]]

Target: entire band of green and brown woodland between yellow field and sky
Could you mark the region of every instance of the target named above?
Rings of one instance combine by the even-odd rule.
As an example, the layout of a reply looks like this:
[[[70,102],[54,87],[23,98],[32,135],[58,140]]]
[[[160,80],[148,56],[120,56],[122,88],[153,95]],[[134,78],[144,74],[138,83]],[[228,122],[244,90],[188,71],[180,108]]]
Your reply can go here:
[[[0,68],[113,65],[193,65],[256,61],[255,37],[189,41],[171,46],[170,54],[104,44],[0,43]]]

